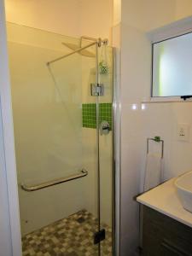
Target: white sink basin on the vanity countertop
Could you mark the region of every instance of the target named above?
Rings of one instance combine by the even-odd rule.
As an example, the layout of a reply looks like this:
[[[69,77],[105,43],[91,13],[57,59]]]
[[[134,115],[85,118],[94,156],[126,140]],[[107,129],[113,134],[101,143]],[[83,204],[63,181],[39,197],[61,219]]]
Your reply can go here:
[[[192,212],[192,171],[177,177],[175,185],[184,209]]]

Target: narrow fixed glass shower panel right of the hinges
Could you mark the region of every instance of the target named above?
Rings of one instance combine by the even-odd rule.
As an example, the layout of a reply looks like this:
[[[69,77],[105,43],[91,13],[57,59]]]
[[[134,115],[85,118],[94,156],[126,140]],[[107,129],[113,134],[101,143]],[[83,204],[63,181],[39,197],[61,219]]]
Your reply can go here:
[[[101,230],[106,239],[101,242],[101,255],[113,255],[113,48],[99,50],[99,81],[104,94],[99,96],[100,123],[100,188]]]

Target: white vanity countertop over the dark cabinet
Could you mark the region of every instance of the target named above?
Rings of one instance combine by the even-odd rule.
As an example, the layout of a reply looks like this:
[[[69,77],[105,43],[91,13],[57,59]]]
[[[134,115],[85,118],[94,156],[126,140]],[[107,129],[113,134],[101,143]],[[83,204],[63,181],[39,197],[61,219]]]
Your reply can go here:
[[[166,214],[177,221],[192,227],[192,213],[184,210],[174,185],[176,178],[137,196],[137,201],[147,207]]]

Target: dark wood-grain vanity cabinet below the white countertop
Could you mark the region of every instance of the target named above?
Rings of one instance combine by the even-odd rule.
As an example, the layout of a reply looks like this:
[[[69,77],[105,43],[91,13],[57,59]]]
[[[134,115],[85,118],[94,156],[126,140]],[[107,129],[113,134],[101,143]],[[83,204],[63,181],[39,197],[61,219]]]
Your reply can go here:
[[[142,207],[143,256],[192,256],[192,228],[152,208]]]

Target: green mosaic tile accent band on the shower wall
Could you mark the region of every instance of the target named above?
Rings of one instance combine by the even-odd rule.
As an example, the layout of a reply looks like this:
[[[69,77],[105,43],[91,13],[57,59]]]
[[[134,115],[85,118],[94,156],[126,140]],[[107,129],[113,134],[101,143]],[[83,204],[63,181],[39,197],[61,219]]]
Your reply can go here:
[[[112,103],[99,104],[99,123],[108,121],[112,130]],[[82,104],[83,127],[96,129],[96,103]]]

